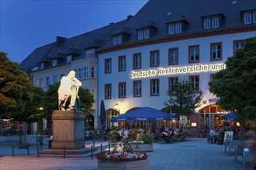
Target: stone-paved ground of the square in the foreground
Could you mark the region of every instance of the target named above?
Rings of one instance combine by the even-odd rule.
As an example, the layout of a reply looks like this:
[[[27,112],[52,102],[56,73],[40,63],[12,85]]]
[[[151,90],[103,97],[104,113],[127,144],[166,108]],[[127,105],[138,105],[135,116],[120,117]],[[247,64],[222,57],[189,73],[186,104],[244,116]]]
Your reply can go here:
[[[107,149],[108,141],[95,141],[97,151],[100,145]],[[86,141],[85,146],[91,147],[92,141]],[[43,149],[47,149],[43,147]],[[11,150],[11,151],[10,151]],[[15,149],[12,157],[11,147],[0,148],[0,169],[90,169],[96,170],[98,161],[90,153],[85,155],[40,155],[37,158],[37,148],[31,147],[29,155],[26,149]],[[19,153],[19,154],[18,154]],[[209,144],[206,138],[191,138],[191,141],[176,142],[174,144],[154,143],[154,151],[148,152],[150,170],[167,169],[243,169],[242,158],[238,155],[237,161],[234,154],[228,155],[224,152],[223,145]],[[252,170],[251,162],[247,161],[246,169]]]

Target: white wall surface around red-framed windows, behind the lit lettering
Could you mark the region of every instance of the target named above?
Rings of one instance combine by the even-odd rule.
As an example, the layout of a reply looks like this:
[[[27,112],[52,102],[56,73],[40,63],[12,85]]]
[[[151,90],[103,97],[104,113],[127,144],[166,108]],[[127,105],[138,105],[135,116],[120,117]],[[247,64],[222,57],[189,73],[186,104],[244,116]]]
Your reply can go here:
[[[175,42],[159,43],[150,46],[138,46],[133,49],[123,49],[113,51],[111,53],[103,53],[99,55],[99,100],[105,98],[105,84],[112,84],[112,99],[105,100],[106,110],[114,108],[115,104],[119,104],[120,114],[126,113],[133,107],[154,107],[156,109],[164,108],[164,100],[168,100],[166,94],[168,90],[168,77],[178,76],[178,80],[188,80],[189,76],[199,75],[199,87],[204,93],[203,100],[207,100],[206,107],[209,104],[209,99],[216,99],[212,93],[209,93],[210,74],[216,71],[202,72],[202,73],[185,73],[173,74],[168,76],[151,76],[140,79],[130,79],[131,71],[140,70],[156,70],[157,68],[169,68],[180,66],[193,66],[199,64],[217,64],[224,63],[227,57],[234,56],[234,41],[240,39],[247,39],[255,36],[256,32],[240,32],[235,34],[227,34],[221,36],[209,36],[195,39],[184,39]],[[210,61],[210,44],[215,42],[222,42],[222,60]],[[199,45],[199,63],[189,63],[189,46]],[[178,47],[178,65],[168,65],[168,49]],[[160,51],[160,66],[150,67],[150,51]],[[142,69],[133,70],[133,54],[142,54]],[[118,56],[126,56],[126,71],[118,72]],[[105,73],[105,59],[112,59],[112,73]],[[157,97],[150,97],[150,79],[159,78],[160,80],[160,95]],[[142,81],[142,97],[133,97],[133,80]],[[126,82],[126,98],[118,98],[118,83]],[[213,100],[211,100],[213,101]],[[98,102],[100,104],[100,102]],[[199,110],[199,107],[197,110]],[[196,111],[197,111],[196,110]]]

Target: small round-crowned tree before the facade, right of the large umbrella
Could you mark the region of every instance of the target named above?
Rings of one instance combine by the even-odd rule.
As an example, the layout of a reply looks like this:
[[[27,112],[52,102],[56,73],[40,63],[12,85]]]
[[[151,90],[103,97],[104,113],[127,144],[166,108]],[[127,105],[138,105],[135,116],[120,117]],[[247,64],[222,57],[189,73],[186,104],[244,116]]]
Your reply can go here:
[[[167,93],[169,100],[164,105],[177,116],[192,114],[200,106],[202,91],[198,91],[192,83],[179,82],[171,86],[171,90]]]

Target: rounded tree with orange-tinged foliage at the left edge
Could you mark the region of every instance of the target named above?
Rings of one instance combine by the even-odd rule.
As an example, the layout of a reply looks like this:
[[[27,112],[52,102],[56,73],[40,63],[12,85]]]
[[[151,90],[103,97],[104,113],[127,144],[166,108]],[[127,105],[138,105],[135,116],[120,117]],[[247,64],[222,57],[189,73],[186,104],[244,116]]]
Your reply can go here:
[[[31,100],[29,76],[19,70],[19,64],[11,62],[7,54],[0,52],[0,114],[1,118],[22,113],[25,102]]]

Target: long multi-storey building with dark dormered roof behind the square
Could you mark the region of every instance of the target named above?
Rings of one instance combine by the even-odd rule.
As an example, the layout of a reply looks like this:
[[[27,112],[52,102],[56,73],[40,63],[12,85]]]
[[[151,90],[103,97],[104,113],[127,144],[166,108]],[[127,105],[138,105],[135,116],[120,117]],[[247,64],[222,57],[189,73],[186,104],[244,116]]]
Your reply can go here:
[[[205,124],[222,124],[221,116],[228,110],[215,104],[208,83],[225,68],[227,58],[243,48],[245,39],[256,36],[255,6],[254,0],[150,0],[121,22],[71,39],[58,37],[36,49],[21,68],[42,88],[54,83],[54,75],[59,81],[61,75],[76,70],[83,86],[95,94],[95,128],[100,100],[105,101],[107,126],[118,126],[110,119],[129,110],[145,106],[164,110],[171,85],[189,81],[203,92],[202,105],[188,123],[195,132]],[[33,64],[27,64],[35,57]],[[171,128],[173,123],[161,122]]]

